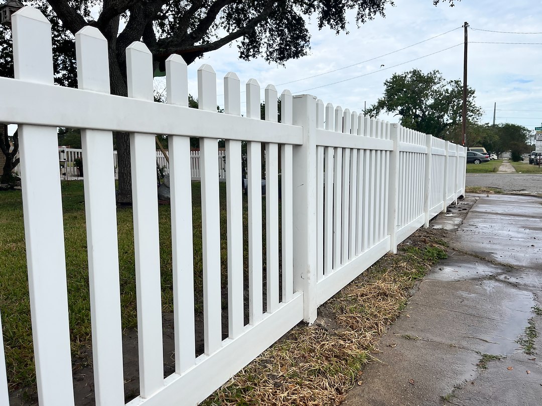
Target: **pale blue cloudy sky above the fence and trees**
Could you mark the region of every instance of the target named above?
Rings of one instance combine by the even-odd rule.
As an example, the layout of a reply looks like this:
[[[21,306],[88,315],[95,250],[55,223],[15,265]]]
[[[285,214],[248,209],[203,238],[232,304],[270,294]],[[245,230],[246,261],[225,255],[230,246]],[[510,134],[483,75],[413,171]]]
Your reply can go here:
[[[493,121],[496,103],[497,123],[511,122],[529,129],[542,126],[541,0],[462,0],[453,8],[447,2],[434,6],[431,0],[395,0],[395,6],[386,9],[385,17],[377,16],[359,28],[354,14],[349,17],[349,34],[318,30],[314,20],[309,22],[309,55],[285,66],[268,64],[263,59],[239,60],[235,43],[212,51],[188,67],[189,92],[197,97],[197,69],[208,63],[217,73],[217,101],[222,107],[222,78],[233,71],[241,80],[242,91],[250,78],[260,83],[262,101],[263,89],[274,84],[279,94],[285,89],[292,94],[312,94],[325,104],[359,113],[365,103],[369,107],[382,97],[383,83],[394,73],[437,69],[446,80],[462,80],[462,25],[467,21],[468,85],[475,89],[476,104],[483,109],[481,122]],[[507,44],[510,42],[515,44]],[[409,48],[398,51],[405,47]],[[385,54],[389,55],[382,56]],[[364,62],[367,60],[371,61]],[[331,70],[335,71],[329,73]],[[315,75],[319,76],[307,78]],[[283,84],[286,82],[292,83]],[[165,87],[160,80],[156,85],[159,90]],[[244,97],[242,93],[241,99]],[[241,106],[242,113],[245,106]],[[382,114],[379,118],[398,121],[393,115]]]

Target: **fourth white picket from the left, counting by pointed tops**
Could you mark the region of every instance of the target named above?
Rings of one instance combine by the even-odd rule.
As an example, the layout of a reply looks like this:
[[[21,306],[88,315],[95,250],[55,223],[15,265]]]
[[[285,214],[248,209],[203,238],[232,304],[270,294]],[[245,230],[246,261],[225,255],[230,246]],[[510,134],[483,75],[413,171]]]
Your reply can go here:
[[[166,60],[167,103],[188,107],[187,67],[183,58]],[[190,139],[169,136],[171,247],[173,271],[173,323],[175,371],[182,374],[195,363],[192,182]]]

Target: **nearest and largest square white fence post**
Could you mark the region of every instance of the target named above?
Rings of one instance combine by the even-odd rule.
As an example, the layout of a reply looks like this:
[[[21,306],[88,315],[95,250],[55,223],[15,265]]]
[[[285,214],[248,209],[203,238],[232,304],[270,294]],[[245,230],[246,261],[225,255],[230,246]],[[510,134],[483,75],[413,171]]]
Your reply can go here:
[[[294,126],[303,127],[303,145],[293,148],[294,290],[304,294],[304,320],[317,317],[316,97],[294,97]]]

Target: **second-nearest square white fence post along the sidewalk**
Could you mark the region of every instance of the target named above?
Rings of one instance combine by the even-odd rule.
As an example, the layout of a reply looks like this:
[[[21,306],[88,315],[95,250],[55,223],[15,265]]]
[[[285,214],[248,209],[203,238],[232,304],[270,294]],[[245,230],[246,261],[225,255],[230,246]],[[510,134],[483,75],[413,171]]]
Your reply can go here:
[[[390,151],[390,182],[388,200],[388,234],[390,234],[390,252],[397,253],[397,187],[399,186],[399,128],[401,125],[393,123],[390,128],[390,140],[393,141],[393,150]]]

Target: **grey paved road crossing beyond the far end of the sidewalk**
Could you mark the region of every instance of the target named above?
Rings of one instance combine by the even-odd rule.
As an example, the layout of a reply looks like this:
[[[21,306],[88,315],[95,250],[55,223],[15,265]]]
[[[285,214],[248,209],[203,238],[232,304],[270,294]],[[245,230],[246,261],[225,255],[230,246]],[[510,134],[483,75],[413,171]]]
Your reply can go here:
[[[467,186],[487,186],[505,192],[542,194],[542,174],[467,173]]]

